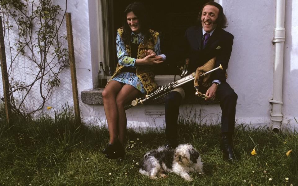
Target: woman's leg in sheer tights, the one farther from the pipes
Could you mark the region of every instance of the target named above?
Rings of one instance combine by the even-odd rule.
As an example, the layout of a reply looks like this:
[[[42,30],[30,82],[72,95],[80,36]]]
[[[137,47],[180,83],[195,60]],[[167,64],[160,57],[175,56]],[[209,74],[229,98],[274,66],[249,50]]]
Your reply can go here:
[[[103,107],[105,109],[106,121],[108,122],[111,144],[118,141],[118,108],[116,97],[123,87],[123,83],[110,81],[102,91]]]

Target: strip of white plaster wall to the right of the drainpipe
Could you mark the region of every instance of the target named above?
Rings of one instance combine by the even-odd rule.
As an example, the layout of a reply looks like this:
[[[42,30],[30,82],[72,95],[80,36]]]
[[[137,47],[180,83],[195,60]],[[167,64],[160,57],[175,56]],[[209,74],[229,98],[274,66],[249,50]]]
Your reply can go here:
[[[286,1],[282,113],[287,128],[298,129],[298,1]]]

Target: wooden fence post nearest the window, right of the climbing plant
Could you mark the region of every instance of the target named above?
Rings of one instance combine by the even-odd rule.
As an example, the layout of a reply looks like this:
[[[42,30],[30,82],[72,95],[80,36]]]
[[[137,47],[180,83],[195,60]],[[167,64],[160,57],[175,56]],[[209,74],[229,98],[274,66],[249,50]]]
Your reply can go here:
[[[68,42],[68,51],[69,51],[69,65],[70,65],[70,74],[71,74],[71,85],[72,85],[72,95],[74,99],[74,108],[75,108],[75,122],[81,123],[80,117],[80,107],[79,107],[79,95],[78,95],[78,86],[77,86],[77,75],[75,71],[75,51],[74,51],[74,41],[72,35],[72,24],[71,24],[71,15],[66,13],[66,30],[67,30],[67,42]]]

